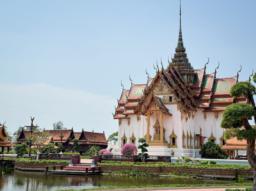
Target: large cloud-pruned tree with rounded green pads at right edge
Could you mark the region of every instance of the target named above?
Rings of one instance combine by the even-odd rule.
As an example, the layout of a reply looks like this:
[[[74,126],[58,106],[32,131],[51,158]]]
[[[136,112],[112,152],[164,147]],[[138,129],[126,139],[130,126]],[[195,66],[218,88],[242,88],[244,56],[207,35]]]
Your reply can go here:
[[[253,81],[256,83],[256,73],[253,76]],[[250,82],[238,82],[232,86],[230,95],[234,97],[245,96],[251,105],[248,103],[233,103],[227,106],[223,112],[222,122],[220,126],[226,128],[225,138],[237,137],[237,140],[245,139],[246,155],[248,162],[252,168],[253,173],[253,186],[252,190],[256,191],[256,155],[255,155],[255,139],[256,130],[252,128],[248,121],[248,117],[254,117],[256,122],[256,107],[253,95],[256,94],[255,86]],[[244,126],[245,129],[237,127]]]

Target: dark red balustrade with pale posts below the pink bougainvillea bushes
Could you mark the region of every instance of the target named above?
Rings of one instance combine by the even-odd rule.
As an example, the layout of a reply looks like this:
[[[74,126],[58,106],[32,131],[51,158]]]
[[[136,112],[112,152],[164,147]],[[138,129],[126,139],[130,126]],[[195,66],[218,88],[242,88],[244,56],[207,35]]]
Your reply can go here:
[[[139,155],[102,155],[94,156],[94,163],[101,161],[128,161],[128,162],[141,162]],[[152,156],[145,159],[145,162],[170,162],[171,156]]]

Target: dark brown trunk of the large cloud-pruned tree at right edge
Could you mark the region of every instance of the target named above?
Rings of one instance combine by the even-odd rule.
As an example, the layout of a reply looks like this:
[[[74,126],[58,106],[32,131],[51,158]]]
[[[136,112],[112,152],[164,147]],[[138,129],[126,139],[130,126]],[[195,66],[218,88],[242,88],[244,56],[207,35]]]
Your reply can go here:
[[[252,126],[249,124],[247,119],[242,119],[242,123],[246,130],[252,129]],[[252,175],[253,175],[253,186],[252,191],[256,191],[256,156],[255,156],[255,139],[246,139],[246,156],[248,163],[252,168]]]

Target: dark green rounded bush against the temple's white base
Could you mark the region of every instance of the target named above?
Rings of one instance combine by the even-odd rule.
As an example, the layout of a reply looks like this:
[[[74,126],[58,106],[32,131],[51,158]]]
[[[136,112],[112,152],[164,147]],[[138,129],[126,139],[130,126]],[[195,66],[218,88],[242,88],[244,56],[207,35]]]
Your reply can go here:
[[[201,151],[199,151],[201,154]],[[213,143],[212,141],[208,141],[203,144],[202,147],[202,156],[203,158],[213,158],[213,159],[227,159],[228,154],[220,149],[220,145]]]

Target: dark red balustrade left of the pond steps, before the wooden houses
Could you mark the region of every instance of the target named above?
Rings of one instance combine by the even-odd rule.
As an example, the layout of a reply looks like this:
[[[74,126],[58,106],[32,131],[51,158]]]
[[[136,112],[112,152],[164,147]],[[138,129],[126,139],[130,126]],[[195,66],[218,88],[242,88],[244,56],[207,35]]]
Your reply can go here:
[[[38,159],[47,159],[43,157],[44,154],[39,153]],[[49,155],[49,158],[51,160],[72,160],[73,164],[80,164],[81,158],[80,154],[51,154]]]

